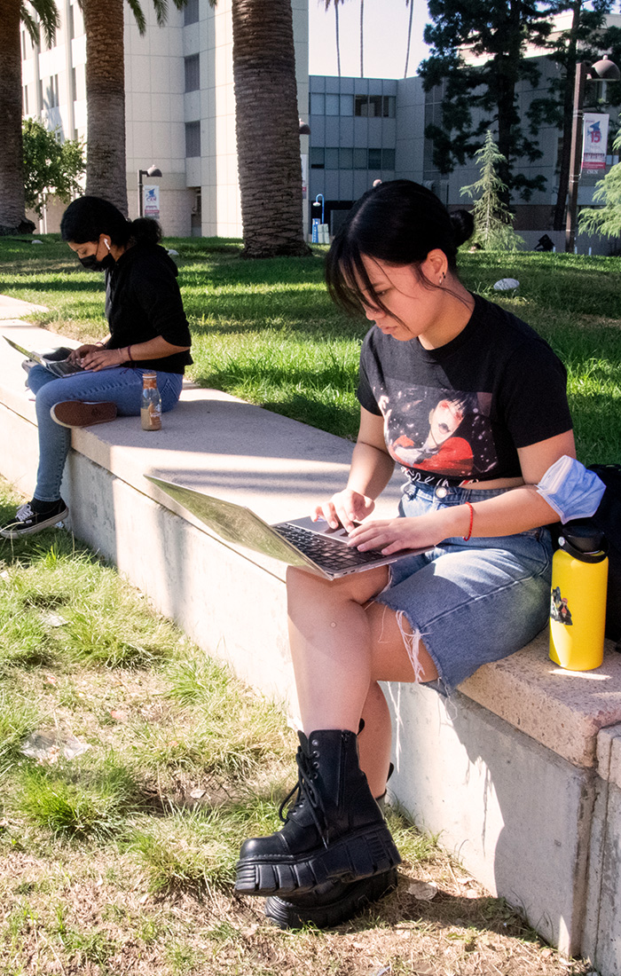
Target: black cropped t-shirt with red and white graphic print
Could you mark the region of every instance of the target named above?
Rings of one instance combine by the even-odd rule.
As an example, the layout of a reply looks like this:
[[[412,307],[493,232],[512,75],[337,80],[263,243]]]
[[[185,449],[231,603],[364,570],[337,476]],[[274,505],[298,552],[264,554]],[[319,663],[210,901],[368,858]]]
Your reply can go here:
[[[445,346],[375,327],[362,345],[358,400],[384,417],[388,450],[413,481],[518,477],[518,448],[571,428],[558,356],[521,319],[474,298],[468,325]]]

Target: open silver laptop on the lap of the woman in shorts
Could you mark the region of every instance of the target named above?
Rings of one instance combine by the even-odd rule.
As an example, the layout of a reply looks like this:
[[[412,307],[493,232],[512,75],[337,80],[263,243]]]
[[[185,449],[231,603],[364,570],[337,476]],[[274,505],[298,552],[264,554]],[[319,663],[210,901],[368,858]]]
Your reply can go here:
[[[269,555],[289,566],[308,569],[328,580],[386,566],[405,555],[426,551],[408,549],[393,555],[383,555],[378,549],[360,552],[346,545],[348,534],[344,528],[331,529],[323,520],[313,522],[311,518],[296,518],[269,525],[251,508],[225,502],[163,478],[149,474],[145,477],[228,543]]]

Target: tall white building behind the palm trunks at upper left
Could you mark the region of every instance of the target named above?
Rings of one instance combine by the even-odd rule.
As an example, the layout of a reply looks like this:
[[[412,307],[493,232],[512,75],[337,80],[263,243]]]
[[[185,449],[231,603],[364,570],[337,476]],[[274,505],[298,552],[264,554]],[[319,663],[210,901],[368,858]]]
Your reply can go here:
[[[57,0],[55,43],[33,47],[21,29],[23,112],[40,116],[65,139],[86,141],[84,21],[76,0]],[[138,171],[155,165],[160,220],[168,236],[241,236],[235,147],[230,0],[171,4],[158,27],[151,0],[141,37],[125,5],[127,188],[138,216]],[[309,2],[292,0],[299,114],[309,103]],[[308,153],[308,137],[301,138]],[[261,147],[257,147],[261,151]],[[57,230],[63,206],[49,208],[40,229]]]

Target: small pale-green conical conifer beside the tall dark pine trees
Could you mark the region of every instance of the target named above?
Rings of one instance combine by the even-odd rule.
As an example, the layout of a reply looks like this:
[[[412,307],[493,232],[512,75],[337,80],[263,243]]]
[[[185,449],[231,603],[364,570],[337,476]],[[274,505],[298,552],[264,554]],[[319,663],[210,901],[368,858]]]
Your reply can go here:
[[[486,251],[517,251],[523,241],[514,230],[513,215],[503,202],[507,184],[498,176],[498,169],[507,160],[494,142],[490,129],[475,157],[480,178],[470,186],[462,186],[462,193],[475,201],[473,243],[480,244]]]

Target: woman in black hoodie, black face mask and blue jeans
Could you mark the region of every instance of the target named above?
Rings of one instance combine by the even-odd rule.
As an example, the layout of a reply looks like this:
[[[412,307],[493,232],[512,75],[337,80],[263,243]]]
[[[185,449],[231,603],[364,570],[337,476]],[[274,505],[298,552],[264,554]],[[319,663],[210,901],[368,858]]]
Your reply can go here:
[[[84,267],[105,273],[109,335],[71,352],[69,359],[86,372],[59,379],[43,366],[30,369],[39,430],[37,484],[30,502],[0,529],[5,539],[39,532],[67,514],[61,482],[71,427],[138,417],[145,370],[157,374],[162,411],[172,410],[192,361],[177,267],[159,246],[156,221],[127,221],[107,200],[83,196],[65,210],[61,233]]]

